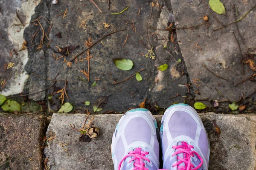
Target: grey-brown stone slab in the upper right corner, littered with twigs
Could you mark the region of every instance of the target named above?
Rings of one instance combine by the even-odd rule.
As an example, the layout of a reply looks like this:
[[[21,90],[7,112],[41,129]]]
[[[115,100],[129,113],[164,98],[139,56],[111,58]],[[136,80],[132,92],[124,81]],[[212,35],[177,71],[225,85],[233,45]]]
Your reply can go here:
[[[209,1],[205,2],[208,5]],[[223,24],[228,24],[239,19],[255,5],[255,1],[243,3],[241,0],[223,0],[221,2],[224,3],[226,8],[226,15],[213,13]],[[244,75],[242,73],[239,47],[233,32],[239,40],[244,58],[247,57],[247,50],[238,35],[236,25],[232,24],[218,31],[213,31],[213,29],[221,27],[221,25],[218,24],[202,1],[171,0],[171,4],[176,28],[199,25],[204,21],[203,19],[198,20],[198,18],[204,17],[205,15],[208,15],[208,22],[211,23],[208,29],[204,26],[199,26],[195,29],[177,30],[177,39],[188,67],[190,81],[192,82],[194,91],[198,90],[200,93],[195,93],[195,99],[237,102],[242,93],[244,97],[252,94],[256,89],[256,84],[252,81],[246,81],[236,87],[234,86],[236,83],[241,82],[242,79],[254,74],[247,65],[244,65]],[[239,12],[236,17],[234,15],[233,5],[238,7]],[[255,8],[241,21],[237,22],[247,48],[255,48],[255,23]],[[197,43],[202,50],[193,48]],[[216,75],[229,80],[229,82],[210,73],[202,64],[206,65]],[[198,82],[201,85],[198,89],[193,83],[193,79],[201,80]]]

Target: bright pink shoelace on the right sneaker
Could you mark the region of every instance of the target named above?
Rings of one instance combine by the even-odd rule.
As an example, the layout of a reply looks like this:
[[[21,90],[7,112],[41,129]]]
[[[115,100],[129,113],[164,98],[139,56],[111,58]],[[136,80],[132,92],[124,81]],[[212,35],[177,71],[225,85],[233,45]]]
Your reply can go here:
[[[177,151],[172,154],[172,156],[175,156],[179,153],[183,153],[184,158],[180,158],[177,156],[177,161],[175,164],[172,165],[172,167],[176,167],[181,170],[198,170],[202,164],[203,164],[203,159],[199,154],[195,151],[191,151],[194,147],[192,145],[187,144],[186,142],[182,142],[182,145],[177,145],[173,146],[173,149],[176,149]],[[194,167],[194,165],[191,163],[190,156],[194,156],[194,154],[198,157],[198,159],[201,161],[200,164],[197,167]],[[185,166],[180,166],[179,164],[185,163]]]

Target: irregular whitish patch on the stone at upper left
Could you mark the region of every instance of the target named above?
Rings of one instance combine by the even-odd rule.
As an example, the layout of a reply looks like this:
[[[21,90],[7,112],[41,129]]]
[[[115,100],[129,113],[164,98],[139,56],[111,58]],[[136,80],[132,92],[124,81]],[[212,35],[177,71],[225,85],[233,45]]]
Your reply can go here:
[[[23,22],[28,23],[31,20],[32,15],[35,13],[35,7],[39,4],[40,1],[35,0],[27,0],[27,1],[20,1],[20,0],[13,0],[9,1],[9,5],[13,8],[13,12],[9,15],[5,16],[8,20],[8,39],[12,42],[14,48],[17,50],[21,49],[22,42],[24,41],[23,33],[24,30],[29,24],[25,26],[15,26],[15,24],[20,24],[20,20],[17,18],[16,9],[23,12],[26,16],[26,20]],[[19,32],[17,32],[19,31]],[[17,65],[15,65],[13,69],[13,76],[15,75],[15,69],[17,69],[17,73],[23,72],[17,75],[17,78],[9,85],[8,89],[3,89],[1,94],[5,96],[10,96],[13,94],[18,94],[23,91],[25,81],[28,79],[29,75],[26,74],[25,65],[28,62],[28,51],[23,50],[18,52],[18,57],[16,59]],[[14,61],[12,61],[14,62]],[[15,63],[15,64],[16,64]]]

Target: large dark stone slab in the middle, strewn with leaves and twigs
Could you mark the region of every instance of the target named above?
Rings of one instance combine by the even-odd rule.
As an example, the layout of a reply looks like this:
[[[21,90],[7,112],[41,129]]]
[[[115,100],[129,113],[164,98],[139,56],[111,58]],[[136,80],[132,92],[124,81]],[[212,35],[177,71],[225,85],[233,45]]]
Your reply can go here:
[[[96,42],[103,35],[114,30],[126,28],[125,31],[112,34],[102,40],[104,45],[98,43],[90,49],[92,58],[90,59],[89,83],[77,79],[77,77],[86,79],[85,75],[80,72],[84,68],[87,71],[86,60],[78,61],[77,64],[73,62],[70,68],[67,67],[67,63],[64,63],[64,58],[55,60],[53,51],[50,50],[48,77],[53,79],[56,73],[59,72],[58,79],[67,79],[70,102],[75,103],[77,108],[84,108],[83,101],[93,103],[101,96],[111,95],[108,103],[101,111],[102,113],[106,111],[126,111],[128,108],[138,106],[145,98],[148,98],[148,101],[151,100],[151,104],[156,101],[161,108],[169,107],[173,102],[183,102],[184,97],[182,96],[186,96],[187,92],[184,85],[187,79],[184,74],[181,75],[182,69],[180,69],[183,65],[178,63],[168,51],[163,50],[162,41],[157,41],[157,39],[163,39],[163,37],[151,36],[154,30],[148,30],[156,59],[153,60],[140,55],[140,53],[147,54],[148,50],[151,49],[146,33],[147,23],[149,25],[153,23],[159,24],[160,28],[168,26],[170,4],[165,4],[162,0],[159,1],[159,6],[153,8],[151,20],[149,20],[151,13],[151,2],[149,1],[122,0],[119,3],[113,1],[109,10],[108,3],[104,0],[99,0],[96,4],[102,10],[102,13],[90,1],[74,3],[74,1],[70,0],[61,0],[57,5],[52,5],[50,8],[51,22],[54,23],[49,37],[52,40],[51,47],[58,51],[56,46],[64,48],[69,45],[79,45],[69,56],[64,56],[67,60],[72,59],[73,56],[86,49],[84,42],[89,37],[91,37],[92,42]],[[122,14],[111,14],[111,12],[122,11],[126,6],[129,6],[129,8]],[[164,6],[163,9],[160,9],[160,6]],[[140,15],[137,15],[139,7]],[[64,19],[63,16],[58,17],[57,15],[61,13],[61,10],[66,8],[68,10],[67,17]],[[162,12],[167,16],[163,15]],[[86,27],[80,28],[79,26],[84,20]],[[131,28],[132,20],[134,20],[136,32]],[[103,23],[110,25],[108,30],[104,28]],[[62,38],[55,36],[59,32]],[[127,34],[129,37],[123,47]],[[169,33],[164,34],[166,44],[169,42],[168,36]],[[55,55],[61,56],[58,53]],[[114,65],[112,59],[120,57],[133,61],[134,66],[130,71],[122,71]],[[84,59],[84,56],[81,59]],[[162,64],[169,64],[167,71],[157,71],[157,67]],[[126,82],[111,85],[114,81],[119,82],[143,68],[145,68],[145,71],[140,73],[143,77],[141,82],[138,82],[134,77]],[[172,72],[175,72],[175,75],[172,75]],[[92,84],[95,79],[100,79],[100,81],[97,81],[95,87],[93,87]],[[63,88],[64,82],[57,82],[56,86]],[[175,99],[169,99],[169,97],[175,96],[177,93],[180,96]],[[88,108],[92,109],[91,106]]]

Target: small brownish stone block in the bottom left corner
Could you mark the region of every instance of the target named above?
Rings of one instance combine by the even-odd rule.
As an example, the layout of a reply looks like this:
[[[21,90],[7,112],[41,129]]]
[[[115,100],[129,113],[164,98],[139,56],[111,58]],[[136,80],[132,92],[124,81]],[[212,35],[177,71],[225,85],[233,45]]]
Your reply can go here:
[[[0,113],[0,170],[42,170],[45,116]]]

